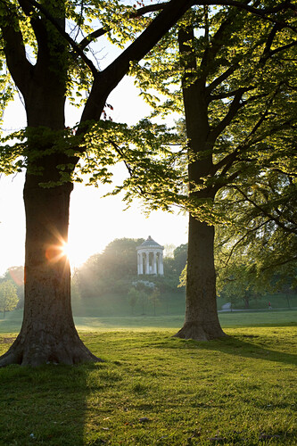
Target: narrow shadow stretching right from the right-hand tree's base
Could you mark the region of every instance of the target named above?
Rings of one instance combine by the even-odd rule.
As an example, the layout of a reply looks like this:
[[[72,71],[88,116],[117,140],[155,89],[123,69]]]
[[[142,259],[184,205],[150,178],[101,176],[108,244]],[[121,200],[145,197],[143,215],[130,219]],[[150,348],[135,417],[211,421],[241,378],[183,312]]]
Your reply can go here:
[[[230,336],[207,343],[201,343],[194,340],[182,340],[182,342],[187,343],[189,348],[191,348],[191,346],[195,348],[199,346],[199,350],[219,351],[243,358],[264,359],[284,364],[297,365],[297,355],[275,351],[265,346],[258,345],[257,343],[248,342],[248,339],[257,340],[260,337],[260,335],[240,335]]]

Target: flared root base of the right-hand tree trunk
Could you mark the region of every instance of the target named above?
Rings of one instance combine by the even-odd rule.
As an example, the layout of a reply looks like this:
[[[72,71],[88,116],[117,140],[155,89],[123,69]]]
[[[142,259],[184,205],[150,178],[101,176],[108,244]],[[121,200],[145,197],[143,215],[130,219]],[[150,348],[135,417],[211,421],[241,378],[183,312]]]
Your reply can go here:
[[[218,324],[202,324],[200,322],[185,322],[185,325],[173,337],[194,339],[194,341],[211,341],[226,337]]]

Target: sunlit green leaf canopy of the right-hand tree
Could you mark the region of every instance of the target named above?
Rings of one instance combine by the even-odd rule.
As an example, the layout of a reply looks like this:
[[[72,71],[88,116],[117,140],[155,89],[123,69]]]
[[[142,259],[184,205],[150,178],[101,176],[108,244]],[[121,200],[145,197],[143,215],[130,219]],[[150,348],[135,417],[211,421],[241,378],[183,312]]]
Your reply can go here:
[[[274,20],[261,20],[244,9],[197,6],[161,39],[144,62],[133,65],[141,94],[153,106],[152,117],[172,112],[184,115],[182,82],[188,90],[199,90],[207,147],[201,153],[185,153],[182,148],[191,137],[187,140],[179,134],[181,150],[171,151],[166,166],[169,161],[175,169],[179,166],[179,177],[174,169],[169,169],[169,178],[160,175],[164,182],[158,186],[161,191],[163,185],[163,194],[156,193],[150,179],[145,184],[144,178],[140,189],[139,163],[139,182],[136,185],[133,176],[128,179],[128,196],[140,193],[161,206],[162,202],[177,203],[198,219],[221,222],[227,201],[220,206],[221,200],[203,201],[197,194],[187,194],[185,166],[206,162],[207,157],[212,161],[209,171],[198,182],[192,180],[196,190],[208,189],[216,194],[226,186],[247,186],[249,178],[252,186],[263,174],[271,178],[283,174],[291,178],[290,194],[295,194],[297,43],[293,10],[293,5],[287,8],[279,3],[279,15]],[[195,113],[192,120],[197,126],[199,113]]]

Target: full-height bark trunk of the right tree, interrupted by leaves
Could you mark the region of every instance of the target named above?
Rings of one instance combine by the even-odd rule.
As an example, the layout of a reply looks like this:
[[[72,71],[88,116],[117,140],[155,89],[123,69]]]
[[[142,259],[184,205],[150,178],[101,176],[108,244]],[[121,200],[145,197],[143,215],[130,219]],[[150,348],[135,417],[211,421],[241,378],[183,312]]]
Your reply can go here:
[[[213,200],[215,192],[202,185],[213,167],[208,122],[208,101],[205,79],[197,78],[194,52],[187,45],[194,39],[192,28],[179,32],[179,50],[186,69],[183,95],[186,113],[186,136],[189,139],[189,191],[196,199]],[[190,74],[189,74],[190,73]],[[212,143],[213,144],[213,143]],[[216,274],[214,267],[214,227],[189,216],[188,256],[186,272],[186,318],[175,335],[185,339],[209,341],[225,336],[218,318]]]

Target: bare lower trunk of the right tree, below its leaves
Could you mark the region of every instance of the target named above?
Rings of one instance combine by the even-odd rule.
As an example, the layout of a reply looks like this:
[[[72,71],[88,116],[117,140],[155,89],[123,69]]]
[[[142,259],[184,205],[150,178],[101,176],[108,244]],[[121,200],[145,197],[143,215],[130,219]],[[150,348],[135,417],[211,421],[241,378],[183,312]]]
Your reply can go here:
[[[209,341],[224,336],[219,324],[214,268],[214,227],[189,219],[186,318],[177,337]]]

